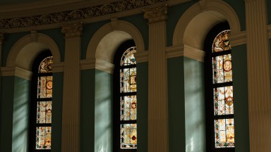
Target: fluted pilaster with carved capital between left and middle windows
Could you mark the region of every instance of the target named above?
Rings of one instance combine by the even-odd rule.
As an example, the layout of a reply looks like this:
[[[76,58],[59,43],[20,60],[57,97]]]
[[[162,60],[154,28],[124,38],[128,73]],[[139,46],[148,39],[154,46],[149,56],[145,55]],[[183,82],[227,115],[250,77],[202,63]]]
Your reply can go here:
[[[62,27],[65,34],[62,151],[80,151],[80,43],[82,24]]]

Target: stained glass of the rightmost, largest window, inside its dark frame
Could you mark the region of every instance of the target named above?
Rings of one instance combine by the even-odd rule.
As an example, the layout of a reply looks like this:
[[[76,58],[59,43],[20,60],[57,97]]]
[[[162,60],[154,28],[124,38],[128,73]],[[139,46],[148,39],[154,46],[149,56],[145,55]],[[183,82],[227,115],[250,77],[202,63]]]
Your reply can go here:
[[[212,42],[212,96],[215,148],[233,148],[234,87],[231,65],[230,30],[219,32]]]

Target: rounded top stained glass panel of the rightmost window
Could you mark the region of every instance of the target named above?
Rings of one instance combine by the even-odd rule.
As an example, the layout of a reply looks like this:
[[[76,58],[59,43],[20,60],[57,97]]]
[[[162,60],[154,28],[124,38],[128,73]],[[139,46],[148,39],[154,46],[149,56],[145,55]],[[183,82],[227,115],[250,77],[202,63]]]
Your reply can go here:
[[[217,34],[212,44],[212,52],[227,51],[231,49],[229,44],[228,35],[231,34],[231,30],[224,30]]]

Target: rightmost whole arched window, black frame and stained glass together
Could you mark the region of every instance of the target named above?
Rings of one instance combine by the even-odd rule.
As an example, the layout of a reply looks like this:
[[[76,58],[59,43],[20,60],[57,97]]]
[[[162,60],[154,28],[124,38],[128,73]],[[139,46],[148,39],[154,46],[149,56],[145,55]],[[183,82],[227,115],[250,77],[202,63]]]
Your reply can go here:
[[[230,34],[229,25],[220,23],[209,32],[205,42],[207,151],[235,151]]]

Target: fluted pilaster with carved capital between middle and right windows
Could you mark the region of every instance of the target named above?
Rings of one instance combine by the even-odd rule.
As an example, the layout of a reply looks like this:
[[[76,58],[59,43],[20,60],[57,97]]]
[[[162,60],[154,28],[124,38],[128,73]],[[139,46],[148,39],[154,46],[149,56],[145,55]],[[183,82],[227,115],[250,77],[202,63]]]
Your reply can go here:
[[[149,21],[148,151],[168,151],[167,6],[144,11]]]

